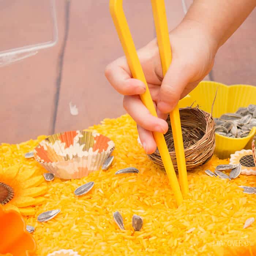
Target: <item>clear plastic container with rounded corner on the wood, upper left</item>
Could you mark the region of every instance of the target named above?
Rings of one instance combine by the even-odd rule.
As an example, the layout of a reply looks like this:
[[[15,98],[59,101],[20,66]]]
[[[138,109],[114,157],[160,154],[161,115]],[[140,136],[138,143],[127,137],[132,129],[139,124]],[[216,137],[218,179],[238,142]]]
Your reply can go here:
[[[42,8],[46,11],[41,12]],[[23,14],[20,14],[21,10]],[[0,67],[33,56],[58,41],[55,0],[2,1],[0,16],[3,22],[7,22],[2,26],[9,27],[9,30],[0,32]],[[37,26],[42,20],[44,29]],[[34,37],[35,32],[37,38]]]

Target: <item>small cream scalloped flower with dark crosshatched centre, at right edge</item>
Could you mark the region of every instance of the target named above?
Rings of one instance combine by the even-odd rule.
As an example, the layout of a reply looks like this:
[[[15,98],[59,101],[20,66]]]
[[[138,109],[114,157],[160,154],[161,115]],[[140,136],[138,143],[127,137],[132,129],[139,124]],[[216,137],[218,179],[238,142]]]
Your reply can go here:
[[[230,164],[241,163],[241,174],[256,175],[256,166],[253,161],[252,150],[240,150],[230,155]]]

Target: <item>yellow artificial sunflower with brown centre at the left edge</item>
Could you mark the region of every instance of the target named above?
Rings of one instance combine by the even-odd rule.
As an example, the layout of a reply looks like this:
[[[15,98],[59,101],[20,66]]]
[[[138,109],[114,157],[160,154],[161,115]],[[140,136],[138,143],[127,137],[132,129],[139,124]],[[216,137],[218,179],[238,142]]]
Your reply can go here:
[[[20,170],[19,165],[0,168],[0,204],[5,210],[16,210],[22,215],[34,215],[32,206],[42,204],[47,186],[42,175],[35,170]]]

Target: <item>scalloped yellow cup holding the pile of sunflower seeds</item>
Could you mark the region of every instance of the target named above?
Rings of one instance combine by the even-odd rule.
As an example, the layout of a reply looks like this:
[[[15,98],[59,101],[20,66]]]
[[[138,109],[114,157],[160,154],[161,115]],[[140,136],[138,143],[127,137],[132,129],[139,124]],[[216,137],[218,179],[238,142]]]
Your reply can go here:
[[[225,113],[234,113],[240,107],[247,107],[249,104],[256,105],[256,87],[251,85],[236,84],[226,86],[225,84],[202,81],[189,93],[188,97],[180,100],[179,108],[191,106],[193,102],[199,105],[200,109],[211,113],[212,102],[215,99],[212,115],[220,117]],[[256,127],[253,127],[245,138],[228,138],[215,133],[215,154],[219,158],[229,158],[235,151],[252,148],[252,138],[256,134]]]

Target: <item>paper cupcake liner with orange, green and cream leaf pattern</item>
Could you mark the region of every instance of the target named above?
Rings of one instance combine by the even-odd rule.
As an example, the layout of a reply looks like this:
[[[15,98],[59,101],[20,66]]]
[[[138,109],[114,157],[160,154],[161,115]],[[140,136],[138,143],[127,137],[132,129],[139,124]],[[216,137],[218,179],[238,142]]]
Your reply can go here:
[[[58,178],[76,179],[98,170],[114,150],[99,133],[69,131],[49,136],[35,148],[35,159]]]

